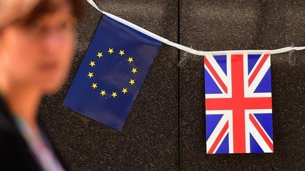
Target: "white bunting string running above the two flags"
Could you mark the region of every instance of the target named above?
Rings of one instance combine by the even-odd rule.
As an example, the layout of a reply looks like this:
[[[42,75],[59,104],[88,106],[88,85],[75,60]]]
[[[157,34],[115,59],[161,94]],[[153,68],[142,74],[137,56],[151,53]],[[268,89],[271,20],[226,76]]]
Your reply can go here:
[[[102,12],[104,15],[110,17],[111,19],[114,19],[118,22],[121,22],[125,25],[128,25],[129,27],[149,36],[152,38],[155,38],[165,44],[168,44],[170,46],[174,46],[180,50],[186,51],[188,53],[194,54],[194,55],[199,55],[199,56],[204,56],[205,54],[212,54],[212,55],[216,55],[216,54],[227,54],[227,53],[268,53],[268,54],[279,54],[279,53],[284,53],[284,52],[288,52],[288,51],[292,51],[292,50],[296,50],[296,51],[300,51],[300,50],[304,50],[305,46],[302,47],[284,47],[281,49],[274,49],[274,50],[233,50],[233,51],[197,51],[195,49],[183,46],[181,44],[178,43],[174,43],[166,38],[162,38],[156,34],[153,34],[152,32],[145,30],[144,28],[141,28],[125,19],[121,19],[117,16],[114,16],[112,14],[109,14],[105,11],[102,11],[93,0],[87,0],[94,8],[96,8],[97,10],[99,10],[100,12]]]

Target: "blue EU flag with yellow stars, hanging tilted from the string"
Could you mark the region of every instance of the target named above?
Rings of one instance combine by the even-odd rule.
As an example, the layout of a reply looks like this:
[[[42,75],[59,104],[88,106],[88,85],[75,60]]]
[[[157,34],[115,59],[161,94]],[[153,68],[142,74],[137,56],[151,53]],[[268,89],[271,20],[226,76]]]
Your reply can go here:
[[[160,46],[104,15],[63,105],[121,131]]]

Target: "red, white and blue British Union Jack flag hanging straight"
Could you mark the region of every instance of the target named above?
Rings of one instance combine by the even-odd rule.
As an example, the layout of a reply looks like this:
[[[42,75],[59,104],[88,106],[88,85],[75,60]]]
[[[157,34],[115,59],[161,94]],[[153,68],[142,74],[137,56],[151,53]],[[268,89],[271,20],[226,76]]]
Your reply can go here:
[[[270,54],[204,57],[207,153],[273,152]]]

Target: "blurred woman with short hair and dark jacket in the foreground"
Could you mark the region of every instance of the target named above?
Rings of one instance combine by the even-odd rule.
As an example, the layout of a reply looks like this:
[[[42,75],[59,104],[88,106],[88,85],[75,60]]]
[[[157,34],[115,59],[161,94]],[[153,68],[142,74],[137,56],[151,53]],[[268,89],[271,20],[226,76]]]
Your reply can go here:
[[[46,93],[64,81],[78,0],[0,0],[0,171],[66,170],[39,127]]]

